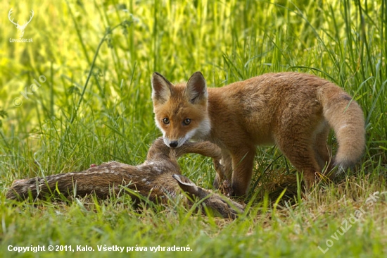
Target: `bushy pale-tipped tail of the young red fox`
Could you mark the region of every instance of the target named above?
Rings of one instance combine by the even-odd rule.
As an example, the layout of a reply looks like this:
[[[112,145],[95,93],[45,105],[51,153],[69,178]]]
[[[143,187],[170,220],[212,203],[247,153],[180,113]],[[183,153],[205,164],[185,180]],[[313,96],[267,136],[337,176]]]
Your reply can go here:
[[[346,92],[333,83],[319,90],[323,115],[334,129],[338,151],[334,165],[345,169],[361,158],[365,148],[364,115],[360,106]]]

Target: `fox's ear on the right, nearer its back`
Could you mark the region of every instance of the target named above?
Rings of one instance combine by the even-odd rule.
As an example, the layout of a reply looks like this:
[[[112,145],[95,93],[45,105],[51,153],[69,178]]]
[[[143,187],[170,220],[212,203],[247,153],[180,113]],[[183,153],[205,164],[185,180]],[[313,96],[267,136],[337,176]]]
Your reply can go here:
[[[186,97],[192,104],[208,99],[207,86],[201,72],[194,73],[186,83]]]

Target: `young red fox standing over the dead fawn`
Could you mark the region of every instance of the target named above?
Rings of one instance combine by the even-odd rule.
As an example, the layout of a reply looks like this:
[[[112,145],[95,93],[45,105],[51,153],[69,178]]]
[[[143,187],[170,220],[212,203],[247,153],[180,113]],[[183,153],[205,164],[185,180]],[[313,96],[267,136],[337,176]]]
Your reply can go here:
[[[306,188],[329,165],[329,128],[336,133],[338,151],[326,171],[353,166],[364,152],[362,109],[340,87],[315,75],[267,73],[207,88],[200,72],[177,85],[153,73],[152,99],[165,145],[178,148],[190,139],[218,145],[236,196],[247,193],[256,145],[277,145],[303,172]]]

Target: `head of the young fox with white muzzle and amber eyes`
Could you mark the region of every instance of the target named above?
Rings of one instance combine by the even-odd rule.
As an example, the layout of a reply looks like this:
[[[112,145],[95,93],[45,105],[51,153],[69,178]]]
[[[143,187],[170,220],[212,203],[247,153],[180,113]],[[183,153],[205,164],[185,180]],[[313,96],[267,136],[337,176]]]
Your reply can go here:
[[[200,72],[194,73],[186,84],[177,85],[160,73],[153,73],[152,100],[156,125],[168,147],[177,148],[191,138],[210,133],[208,92]]]

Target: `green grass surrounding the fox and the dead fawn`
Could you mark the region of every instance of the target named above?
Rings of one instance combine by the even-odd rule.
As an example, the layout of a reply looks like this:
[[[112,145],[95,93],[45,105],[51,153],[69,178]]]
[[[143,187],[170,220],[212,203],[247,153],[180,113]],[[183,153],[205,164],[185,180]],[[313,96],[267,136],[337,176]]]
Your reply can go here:
[[[112,254],[98,252],[97,245],[148,247],[130,252],[133,257],[386,256],[385,0],[0,2],[0,256]],[[34,10],[23,36],[32,43],[9,42],[18,37],[7,17],[11,8],[20,24]],[[258,194],[236,221],[202,216],[179,199],[141,212],[125,196],[5,199],[18,178],[80,171],[110,160],[143,162],[160,136],[153,121],[152,73],[179,82],[196,70],[209,87],[284,70],[335,82],[364,110],[362,160],[334,183],[285,202],[285,196],[267,199],[265,190],[296,171],[275,147],[258,147],[252,187]],[[32,92],[30,85],[42,75],[46,80]],[[20,94],[25,87],[29,99]],[[19,107],[13,104],[17,97],[23,100]],[[329,142],[335,146],[334,135]],[[187,155],[179,162],[184,175],[211,187],[210,159]],[[367,201],[374,192],[379,199]],[[350,224],[360,208],[364,214]],[[340,235],[345,221],[352,227]],[[18,254],[8,252],[9,245],[89,245],[96,251]],[[158,245],[189,245],[192,251],[150,251]]]

